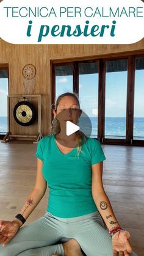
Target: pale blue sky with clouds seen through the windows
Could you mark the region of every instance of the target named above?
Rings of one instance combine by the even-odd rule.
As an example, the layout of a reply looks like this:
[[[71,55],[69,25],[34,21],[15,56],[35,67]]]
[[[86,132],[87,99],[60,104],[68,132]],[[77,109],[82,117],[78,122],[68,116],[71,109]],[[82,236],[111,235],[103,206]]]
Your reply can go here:
[[[106,74],[106,117],[126,117],[127,72]],[[144,70],[135,71],[134,117],[144,117]],[[98,115],[98,74],[81,75],[79,78],[81,109],[89,117]],[[0,79],[0,116],[7,116],[8,80]],[[72,76],[57,76],[56,98],[63,92],[73,91]]]

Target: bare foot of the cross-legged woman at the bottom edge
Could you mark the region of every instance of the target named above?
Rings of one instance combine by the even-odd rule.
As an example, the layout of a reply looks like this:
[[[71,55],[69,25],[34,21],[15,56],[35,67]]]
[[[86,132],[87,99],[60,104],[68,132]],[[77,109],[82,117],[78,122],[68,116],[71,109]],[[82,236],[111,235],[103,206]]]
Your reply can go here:
[[[62,245],[65,256],[83,256],[81,252],[81,247],[74,238],[68,240],[66,243],[63,243]]]

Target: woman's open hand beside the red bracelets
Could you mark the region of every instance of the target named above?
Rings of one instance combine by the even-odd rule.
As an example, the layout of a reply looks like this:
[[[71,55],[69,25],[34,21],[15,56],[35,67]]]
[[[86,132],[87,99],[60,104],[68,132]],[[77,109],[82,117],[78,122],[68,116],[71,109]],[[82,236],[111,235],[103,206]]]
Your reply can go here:
[[[112,247],[113,256],[129,256],[132,252],[131,244],[128,239],[130,238],[130,233],[126,230],[121,230],[112,236]]]

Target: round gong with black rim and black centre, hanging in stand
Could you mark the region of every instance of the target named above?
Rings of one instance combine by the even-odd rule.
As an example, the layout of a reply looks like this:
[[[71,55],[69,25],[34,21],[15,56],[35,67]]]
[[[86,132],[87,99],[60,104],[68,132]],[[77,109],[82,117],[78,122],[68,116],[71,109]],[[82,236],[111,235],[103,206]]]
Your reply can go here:
[[[36,119],[36,110],[32,103],[28,101],[20,101],[13,109],[13,117],[19,125],[29,126]]]

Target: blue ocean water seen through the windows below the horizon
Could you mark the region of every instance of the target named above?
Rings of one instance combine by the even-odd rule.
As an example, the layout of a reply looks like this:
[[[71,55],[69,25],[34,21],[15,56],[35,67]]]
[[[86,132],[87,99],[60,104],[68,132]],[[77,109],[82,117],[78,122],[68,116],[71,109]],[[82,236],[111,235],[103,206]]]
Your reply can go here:
[[[85,126],[85,133],[88,133],[87,123],[85,118],[82,120],[82,126]],[[98,119],[90,117],[92,123],[92,133],[90,137],[97,137]],[[0,133],[7,132],[7,117],[0,117]],[[105,137],[123,139],[126,133],[126,118],[125,117],[106,117],[105,119]],[[89,134],[88,134],[89,135]],[[134,118],[134,137],[135,139],[144,139],[144,118]]]

